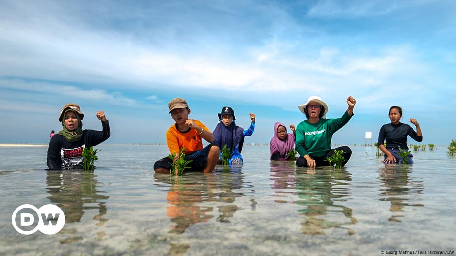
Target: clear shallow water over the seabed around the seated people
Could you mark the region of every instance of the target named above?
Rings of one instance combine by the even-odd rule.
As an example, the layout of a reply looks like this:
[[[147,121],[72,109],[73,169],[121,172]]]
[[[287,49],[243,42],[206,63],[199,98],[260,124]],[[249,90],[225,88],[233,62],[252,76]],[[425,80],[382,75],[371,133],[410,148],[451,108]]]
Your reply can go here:
[[[244,147],[244,166],[210,175],[155,174],[165,146],[98,146],[94,174],[44,171],[46,147],[0,148],[0,255],[382,255],[455,250],[456,160],[440,147],[415,165],[384,166],[352,147],[342,170],[270,163]],[[56,235],[17,233],[22,204],[55,204]]]

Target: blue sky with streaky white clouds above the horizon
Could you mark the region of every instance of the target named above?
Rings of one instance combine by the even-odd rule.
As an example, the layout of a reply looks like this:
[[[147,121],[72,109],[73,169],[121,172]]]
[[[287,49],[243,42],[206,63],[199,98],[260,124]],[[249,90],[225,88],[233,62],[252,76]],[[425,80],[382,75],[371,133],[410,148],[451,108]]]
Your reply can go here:
[[[110,120],[111,143],[164,142],[167,102],[183,97],[210,130],[232,106],[247,142],[304,120],[318,95],[327,117],[355,117],[333,143],[374,141],[388,109],[416,118],[423,143],[456,138],[456,1],[3,1],[0,143],[47,143],[68,102],[84,128]],[[409,143],[413,143],[409,138]]]

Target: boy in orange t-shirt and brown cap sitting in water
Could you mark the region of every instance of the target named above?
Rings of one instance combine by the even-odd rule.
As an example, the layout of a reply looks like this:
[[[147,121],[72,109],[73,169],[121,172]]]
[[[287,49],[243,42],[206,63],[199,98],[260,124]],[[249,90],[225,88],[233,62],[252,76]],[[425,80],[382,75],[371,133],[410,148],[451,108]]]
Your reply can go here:
[[[214,136],[208,128],[198,120],[189,119],[190,108],[187,101],[175,98],[168,103],[169,113],[176,122],[166,132],[166,142],[170,154],[176,153],[179,157],[181,148],[185,148],[185,159],[192,160],[189,163],[190,171],[203,170],[212,172],[218,161],[220,148],[213,143]],[[210,144],[203,148],[202,139]],[[169,173],[172,160],[164,157],[154,164],[155,172]]]

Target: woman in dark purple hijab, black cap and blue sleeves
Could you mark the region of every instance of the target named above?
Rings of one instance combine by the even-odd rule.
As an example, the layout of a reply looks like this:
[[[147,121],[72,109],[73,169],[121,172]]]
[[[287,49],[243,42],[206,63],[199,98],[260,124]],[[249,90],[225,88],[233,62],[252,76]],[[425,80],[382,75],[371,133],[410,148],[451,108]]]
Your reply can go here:
[[[251,136],[255,130],[255,114],[250,113],[250,126],[245,129],[237,126],[234,122],[234,110],[229,106],[222,107],[221,112],[218,114],[218,124],[214,129],[214,142],[220,147],[219,163],[222,162],[222,148],[227,145],[231,152],[231,158],[228,160],[229,164],[242,165],[244,159],[241,156],[242,144],[244,137]]]

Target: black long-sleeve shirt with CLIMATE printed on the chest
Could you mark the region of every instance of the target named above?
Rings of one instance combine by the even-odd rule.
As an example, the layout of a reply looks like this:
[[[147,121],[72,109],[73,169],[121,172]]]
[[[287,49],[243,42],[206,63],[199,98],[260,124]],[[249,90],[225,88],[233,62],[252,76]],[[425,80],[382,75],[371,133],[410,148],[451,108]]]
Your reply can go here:
[[[56,134],[49,142],[46,165],[49,170],[60,170],[82,163],[82,150],[85,147],[97,146],[111,135],[109,122],[101,122],[103,131],[84,130],[81,139],[68,142],[65,136]]]

